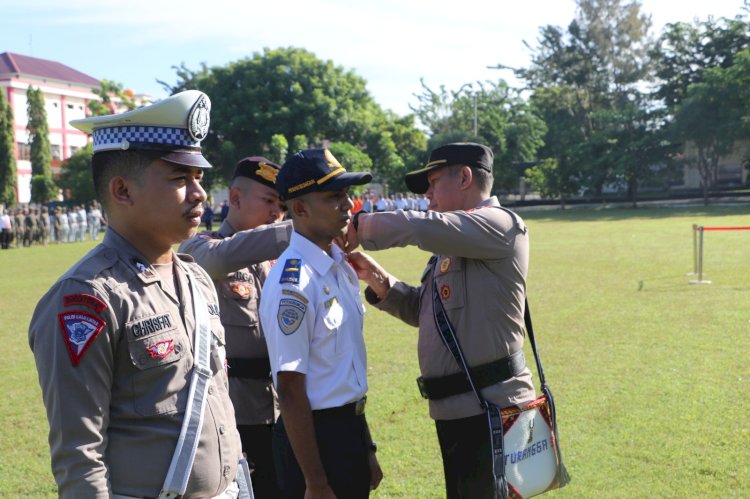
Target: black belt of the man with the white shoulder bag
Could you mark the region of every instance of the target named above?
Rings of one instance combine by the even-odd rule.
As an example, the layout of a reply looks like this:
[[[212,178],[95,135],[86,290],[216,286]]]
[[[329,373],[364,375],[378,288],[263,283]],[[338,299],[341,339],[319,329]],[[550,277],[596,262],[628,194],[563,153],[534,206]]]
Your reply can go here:
[[[525,368],[526,357],[523,355],[523,350],[519,350],[508,357],[472,367],[471,377],[477,384],[477,388],[484,388],[518,376]],[[440,378],[423,378],[420,376],[417,378],[417,386],[419,386],[419,393],[422,394],[422,397],[430,400],[440,400],[451,395],[471,391],[469,380],[462,372]]]

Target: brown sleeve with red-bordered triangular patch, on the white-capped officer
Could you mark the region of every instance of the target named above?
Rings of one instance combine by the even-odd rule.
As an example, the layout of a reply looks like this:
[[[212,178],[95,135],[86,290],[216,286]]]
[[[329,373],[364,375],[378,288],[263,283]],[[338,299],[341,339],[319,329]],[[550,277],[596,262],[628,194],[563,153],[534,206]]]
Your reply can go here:
[[[105,461],[118,325],[103,292],[66,280],[29,326],[59,497],[110,496]]]

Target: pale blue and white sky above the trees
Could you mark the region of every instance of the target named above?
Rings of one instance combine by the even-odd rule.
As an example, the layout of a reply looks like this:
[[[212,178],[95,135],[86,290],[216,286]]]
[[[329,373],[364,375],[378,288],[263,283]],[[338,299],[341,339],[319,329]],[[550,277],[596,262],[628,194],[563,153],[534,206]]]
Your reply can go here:
[[[666,23],[734,17],[743,0],[642,0]],[[61,62],[154,98],[174,66],[224,66],[264,48],[302,47],[367,81],[385,109],[409,113],[420,79],[437,90],[505,79],[528,66],[539,28],[566,27],[574,0],[0,0],[0,52]]]

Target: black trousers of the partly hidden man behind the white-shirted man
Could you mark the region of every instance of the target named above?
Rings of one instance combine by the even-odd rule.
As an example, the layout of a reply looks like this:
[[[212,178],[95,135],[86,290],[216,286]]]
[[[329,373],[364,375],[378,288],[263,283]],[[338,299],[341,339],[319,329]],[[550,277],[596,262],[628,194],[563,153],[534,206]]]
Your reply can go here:
[[[253,492],[258,499],[280,497],[276,483],[276,468],[271,451],[273,425],[237,425],[242,441],[242,452],[247,455],[253,480]]]

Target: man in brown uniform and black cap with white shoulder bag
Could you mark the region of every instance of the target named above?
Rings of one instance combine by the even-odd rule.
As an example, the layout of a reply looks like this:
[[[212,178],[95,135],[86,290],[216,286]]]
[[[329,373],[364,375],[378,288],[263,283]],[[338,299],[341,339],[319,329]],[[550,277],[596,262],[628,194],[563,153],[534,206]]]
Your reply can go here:
[[[492,163],[480,144],[439,147],[406,175],[412,192],[426,193],[430,211],[363,213],[348,234],[349,249],[413,245],[434,254],[418,287],[364,254],[351,259],[368,284],[367,300],[419,327],[420,391],[430,400],[449,498],[493,497],[492,451],[487,415],[437,329],[435,288],[484,398],[499,407],[534,399],[522,351],[529,240],[520,217],[490,195]]]

